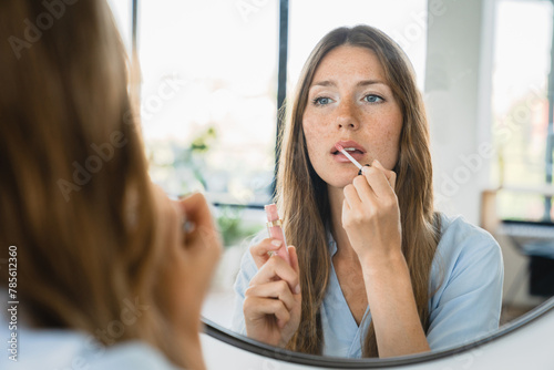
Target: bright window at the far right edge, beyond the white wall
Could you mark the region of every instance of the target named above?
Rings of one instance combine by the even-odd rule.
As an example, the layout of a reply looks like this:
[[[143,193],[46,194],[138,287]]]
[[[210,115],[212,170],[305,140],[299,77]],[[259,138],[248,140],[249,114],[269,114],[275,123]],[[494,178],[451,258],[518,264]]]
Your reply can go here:
[[[547,150],[548,73],[553,6],[550,1],[499,1],[493,74],[492,163],[499,216],[551,219],[552,150]],[[551,88],[552,89],[552,88]],[[547,160],[550,158],[550,160]],[[551,177],[552,178],[552,177]]]

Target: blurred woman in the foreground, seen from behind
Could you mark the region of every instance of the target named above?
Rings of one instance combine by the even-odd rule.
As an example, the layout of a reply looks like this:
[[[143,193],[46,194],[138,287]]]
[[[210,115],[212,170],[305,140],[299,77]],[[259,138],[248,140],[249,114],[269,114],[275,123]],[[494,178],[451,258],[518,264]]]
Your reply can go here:
[[[0,3],[0,368],[203,369],[206,202],[151,183],[106,2],[57,7]]]

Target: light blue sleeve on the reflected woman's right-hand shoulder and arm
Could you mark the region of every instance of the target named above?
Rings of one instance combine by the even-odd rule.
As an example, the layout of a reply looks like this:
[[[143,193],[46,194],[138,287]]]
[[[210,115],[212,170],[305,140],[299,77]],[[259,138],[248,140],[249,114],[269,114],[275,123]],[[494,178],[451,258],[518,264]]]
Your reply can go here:
[[[475,226],[456,228],[441,238],[440,267],[433,266],[440,281],[430,301],[427,338],[432,350],[464,345],[499,328],[504,279],[500,246]]]

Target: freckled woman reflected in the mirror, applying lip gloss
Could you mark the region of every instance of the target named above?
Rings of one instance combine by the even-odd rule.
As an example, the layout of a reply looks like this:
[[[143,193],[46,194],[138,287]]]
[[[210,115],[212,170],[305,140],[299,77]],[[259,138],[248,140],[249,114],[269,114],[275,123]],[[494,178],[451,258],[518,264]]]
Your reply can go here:
[[[291,264],[250,247],[234,329],[288,349],[391,357],[497,328],[500,248],[433,210],[428,123],[411,64],[371,27],[340,28],[311,52],[283,135],[278,204]],[[358,168],[336,148],[342,145]]]

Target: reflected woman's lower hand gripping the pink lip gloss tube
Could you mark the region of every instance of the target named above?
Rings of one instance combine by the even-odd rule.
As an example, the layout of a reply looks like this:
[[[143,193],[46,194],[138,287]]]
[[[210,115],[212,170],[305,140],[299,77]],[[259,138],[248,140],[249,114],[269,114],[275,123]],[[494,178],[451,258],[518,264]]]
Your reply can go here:
[[[269,257],[283,243],[267,238],[250,248],[258,273],[245,292],[246,335],[284,348],[300,325],[301,292],[296,248],[288,247],[290,265],[281,257]]]

